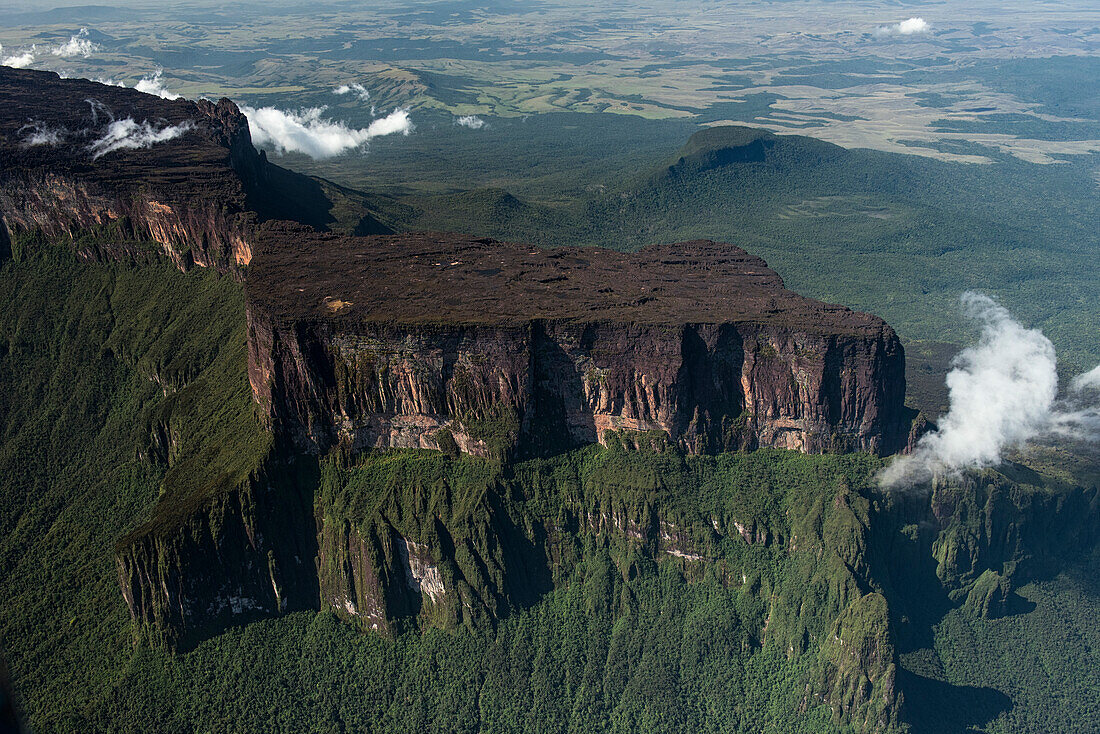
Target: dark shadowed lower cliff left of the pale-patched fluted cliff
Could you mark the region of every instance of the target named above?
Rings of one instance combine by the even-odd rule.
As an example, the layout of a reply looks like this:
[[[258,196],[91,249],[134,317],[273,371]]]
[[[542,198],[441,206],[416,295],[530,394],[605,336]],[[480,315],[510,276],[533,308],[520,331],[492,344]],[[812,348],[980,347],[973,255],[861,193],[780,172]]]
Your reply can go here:
[[[314,469],[273,461],[198,502],[169,497],[122,538],[119,585],[139,628],[186,648],[232,624],[317,607]]]

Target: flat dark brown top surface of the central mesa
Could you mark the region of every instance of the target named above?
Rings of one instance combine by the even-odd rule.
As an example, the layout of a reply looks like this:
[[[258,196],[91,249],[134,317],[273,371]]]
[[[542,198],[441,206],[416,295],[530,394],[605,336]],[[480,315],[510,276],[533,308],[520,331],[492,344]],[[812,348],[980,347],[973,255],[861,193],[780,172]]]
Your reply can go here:
[[[508,325],[759,322],[893,337],[881,319],[805,298],[745,250],[708,240],[540,249],[442,232],[340,237],[273,226],[257,235],[250,300],[298,319]]]

